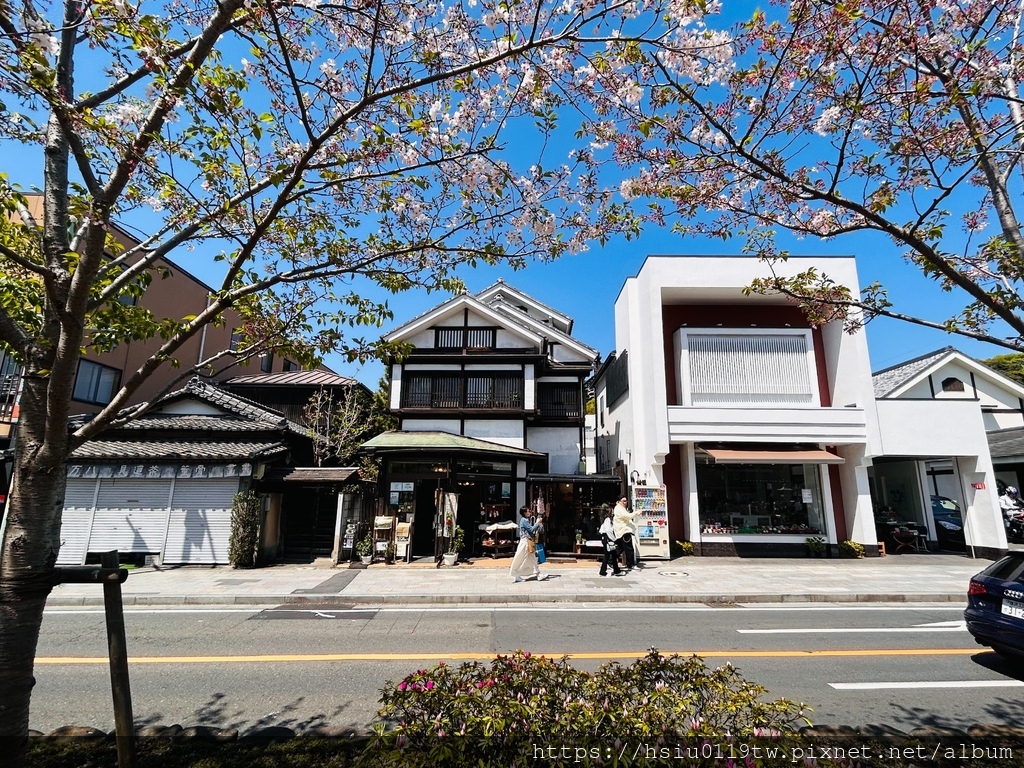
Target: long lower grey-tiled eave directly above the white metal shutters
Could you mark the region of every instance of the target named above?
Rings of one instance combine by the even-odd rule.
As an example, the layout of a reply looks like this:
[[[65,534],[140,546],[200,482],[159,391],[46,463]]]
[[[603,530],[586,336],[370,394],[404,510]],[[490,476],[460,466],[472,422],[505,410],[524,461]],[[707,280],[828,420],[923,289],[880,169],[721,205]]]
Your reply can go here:
[[[244,438],[231,440],[147,439],[97,437],[72,454],[75,461],[86,459],[146,461],[242,461],[265,459],[288,451],[280,440]]]

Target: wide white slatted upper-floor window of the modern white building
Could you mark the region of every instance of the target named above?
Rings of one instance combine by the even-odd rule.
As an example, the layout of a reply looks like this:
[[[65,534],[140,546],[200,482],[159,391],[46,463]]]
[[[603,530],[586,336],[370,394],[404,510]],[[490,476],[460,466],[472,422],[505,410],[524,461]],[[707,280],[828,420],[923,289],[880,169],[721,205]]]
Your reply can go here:
[[[694,406],[814,402],[812,359],[803,333],[687,334],[685,347]]]

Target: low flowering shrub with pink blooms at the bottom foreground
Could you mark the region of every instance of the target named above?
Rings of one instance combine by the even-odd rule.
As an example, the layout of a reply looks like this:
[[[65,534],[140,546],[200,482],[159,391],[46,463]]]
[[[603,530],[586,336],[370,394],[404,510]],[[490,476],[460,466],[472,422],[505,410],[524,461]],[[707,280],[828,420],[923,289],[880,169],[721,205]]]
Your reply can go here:
[[[656,650],[594,674],[573,669],[567,657],[525,651],[488,664],[440,664],[382,691],[381,722],[359,765],[655,764],[650,752],[635,754],[644,745],[671,751],[673,765],[705,764],[710,756],[701,751],[724,750],[724,766],[729,744],[736,746],[735,766],[782,765],[781,752],[769,761],[753,758],[751,748],[781,750],[808,722],[806,711],[763,700],[766,692],[731,665],[709,669],[697,656]]]

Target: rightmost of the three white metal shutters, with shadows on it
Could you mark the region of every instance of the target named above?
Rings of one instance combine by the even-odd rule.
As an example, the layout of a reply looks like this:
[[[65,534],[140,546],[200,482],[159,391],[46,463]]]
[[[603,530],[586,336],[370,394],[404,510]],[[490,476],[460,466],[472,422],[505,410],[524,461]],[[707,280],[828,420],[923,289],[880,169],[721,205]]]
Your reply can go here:
[[[227,562],[231,502],[238,490],[237,477],[175,481],[165,565]]]

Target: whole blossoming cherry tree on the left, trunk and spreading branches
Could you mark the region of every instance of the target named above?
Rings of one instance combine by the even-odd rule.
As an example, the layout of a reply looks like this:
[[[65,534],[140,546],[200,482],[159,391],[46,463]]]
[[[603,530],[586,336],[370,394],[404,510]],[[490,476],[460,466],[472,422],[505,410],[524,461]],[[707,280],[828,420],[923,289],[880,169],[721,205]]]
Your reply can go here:
[[[380,349],[359,329],[389,312],[374,289],[457,291],[462,265],[634,234],[592,137],[556,130],[634,100],[637,50],[697,77],[720,66],[703,6],[0,0],[0,141],[39,157],[42,202],[0,179],[0,342],[25,371],[0,549],[0,765],[23,760],[70,453],[130,418],[156,372],[184,369],[177,351],[227,308],[252,353],[298,339],[310,357],[361,357]],[[119,245],[118,225],[139,244]],[[157,318],[123,300],[157,290],[171,256],[215,270],[205,310]],[[69,431],[83,349],[129,339],[160,349]]]

